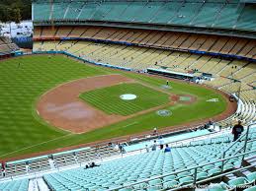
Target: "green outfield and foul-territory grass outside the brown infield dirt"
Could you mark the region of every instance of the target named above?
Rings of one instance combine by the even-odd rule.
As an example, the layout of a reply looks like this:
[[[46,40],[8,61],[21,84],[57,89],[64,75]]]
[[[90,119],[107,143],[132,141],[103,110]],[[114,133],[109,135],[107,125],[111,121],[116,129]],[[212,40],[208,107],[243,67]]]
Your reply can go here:
[[[21,66],[19,67],[19,63]],[[108,127],[74,135],[48,126],[38,116],[36,102],[46,91],[71,80],[119,73],[138,82],[159,88],[164,79],[82,64],[64,56],[26,56],[0,62],[0,159],[59,147],[104,140],[145,130],[177,125],[221,113],[226,102],[212,90],[172,82],[170,93],[197,96],[191,105],[167,106],[169,117],[155,112],[129,118]],[[218,98],[218,102],[207,102]]]

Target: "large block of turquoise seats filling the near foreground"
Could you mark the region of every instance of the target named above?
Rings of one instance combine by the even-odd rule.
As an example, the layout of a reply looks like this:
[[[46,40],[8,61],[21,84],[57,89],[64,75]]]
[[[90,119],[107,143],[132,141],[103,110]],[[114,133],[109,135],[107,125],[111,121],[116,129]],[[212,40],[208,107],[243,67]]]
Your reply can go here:
[[[197,181],[238,169],[237,172],[224,175],[224,182],[214,185],[222,188],[216,190],[231,190],[238,185],[250,187],[255,185],[256,180],[255,138],[256,129],[251,127],[246,146],[246,152],[251,153],[245,155],[245,158],[236,157],[244,147],[245,137],[242,137],[241,142],[233,144],[232,135],[225,132],[210,139],[180,146],[173,144],[170,153],[159,149],[148,153],[143,150],[142,154],[103,161],[100,166],[92,168],[81,166],[47,173],[43,175],[43,180],[50,190],[115,190],[124,186],[126,188],[118,190],[168,190],[193,183],[195,170],[191,168],[199,166]],[[222,165],[218,159],[222,159],[223,152],[226,160]],[[240,167],[246,169],[239,170]],[[140,181],[143,182],[136,183]],[[206,183],[213,181],[220,180],[215,178]],[[12,182],[14,184],[17,184],[16,181]],[[133,185],[128,186],[130,184]]]

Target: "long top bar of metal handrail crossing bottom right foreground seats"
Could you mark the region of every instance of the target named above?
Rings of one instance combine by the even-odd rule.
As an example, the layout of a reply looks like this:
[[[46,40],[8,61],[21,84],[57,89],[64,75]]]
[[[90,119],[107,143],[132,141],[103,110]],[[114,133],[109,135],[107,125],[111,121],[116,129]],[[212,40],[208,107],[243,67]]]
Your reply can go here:
[[[148,182],[148,181],[151,181],[151,180],[154,180],[154,179],[158,179],[158,178],[163,178],[163,177],[166,177],[166,176],[169,176],[169,175],[174,175],[174,174],[178,174],[178,173],[181,173],[181,172],[184,172],[184,171],[190,171],[192,169],[194,169],[196,171],[196,168],[200,168],[200,167],[203,167],[203,166],[206,166],[206,165],[210,165],[210,164],[213,164],[213,163],[216,163],[216,162],[219,162],[219,161],[223,161],[223,160],[227,160],[227,159],[234,159],[234,158],[238,158],[238,157],[241,157],[241,156],[246,156],[248,154],[251,154],[251,153],[255,153],[256,150],[252,150],[250,152],[246,152],[246,153],[243,153],[243,154],[239,154],[237,156],[232,156],[232,157],[229,157],[229,158],[226,158],[226,159],[217,159],[217,160],[214,160],[214,161],[211,161],[211,162],[208,162],[208,163],[204,163],[204,164],[200,164],[200,165],[196,165],[194,167],[190,167],[190,168],[186,168],[186,169],[182,169],[182,170],[178,170],[178,171],[175,171],[175,172],[171,172],[171,173],[167,173],[165,175],[158,175],[158,176],[155,176],[153,178],[146,178],[144,180],[141,180],[141,181],[137,181],[137,182],[134,182],[134,183],[130,183],[128,185],[125,185],[125,186],[119,186],[117,188],[113,188],[113,189],[108,189],[107,191],[116,191],[116,190],[119,190],[119,189],[122,189],[122,188],[128,188],[128,187],[132,187],[134,185],[137,185],[137,184],[140,184],[140,183],[144,183],[144,182]],[[195,173],[194,173],[195,174]],[[195,174],[196,178],[197,179],[197,174]]]

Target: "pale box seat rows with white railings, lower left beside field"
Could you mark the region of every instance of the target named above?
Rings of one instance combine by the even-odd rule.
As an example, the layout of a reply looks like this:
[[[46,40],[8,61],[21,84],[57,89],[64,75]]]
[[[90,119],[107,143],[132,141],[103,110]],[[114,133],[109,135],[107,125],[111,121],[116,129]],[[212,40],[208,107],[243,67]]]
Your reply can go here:
[[[5,163],[5,177],[35,173],[42,170],[48,170],[50,168],[59,168],[62,166],[91,161],[94,159],[112,157],[118,154],[119,151],[115,150],[114,148],[102,146],[96,148],[83,148],[72,152],[57,153],[35,159],[24,159],[14,162],[10,161]],[[52,160],[54,160],[53,164],[51,163]]]

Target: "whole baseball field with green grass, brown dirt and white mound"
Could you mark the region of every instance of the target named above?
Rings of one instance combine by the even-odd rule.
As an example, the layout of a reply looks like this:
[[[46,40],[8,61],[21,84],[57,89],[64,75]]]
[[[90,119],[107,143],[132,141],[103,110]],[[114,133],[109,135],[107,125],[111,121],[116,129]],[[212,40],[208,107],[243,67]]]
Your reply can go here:
[[[216,120],[229,104],[203,86],[62,55],[4,60],[0,73],[0,159]]]

